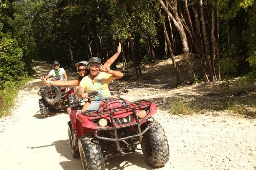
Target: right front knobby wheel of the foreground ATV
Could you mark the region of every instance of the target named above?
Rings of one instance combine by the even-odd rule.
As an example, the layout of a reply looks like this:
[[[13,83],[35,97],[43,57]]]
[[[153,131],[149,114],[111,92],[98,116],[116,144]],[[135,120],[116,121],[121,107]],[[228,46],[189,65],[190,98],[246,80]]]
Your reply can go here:
[[[143,129],[150,126],[152,122],[143,125]],[[143,135],[141,148],[147,163],[151,167],[162,167],[169,160],[169,145],[165,131],[162,126],[155,122]]]

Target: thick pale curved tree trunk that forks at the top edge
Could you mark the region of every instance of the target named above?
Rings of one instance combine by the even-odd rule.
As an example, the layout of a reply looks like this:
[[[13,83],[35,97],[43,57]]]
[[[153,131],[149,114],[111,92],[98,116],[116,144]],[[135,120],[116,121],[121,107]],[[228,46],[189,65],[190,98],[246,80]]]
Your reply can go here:
[[[164,2],[162,0],[158,0],[158,1],[160,2],[162,8],[164,8],[164,10],[168,14],[168,16],[170,16],[170,18],[173,18],[172,21],[174,23],[174,26],[176,27],[176,29],[178,30],[178,32],[180,34],[182,46],[183,46],[183,52],[184,52],[184,59],[186,61],[186,65],[187,65],[187,72],[188,72],[190,80],[192,80],[192,78],[194,77],[193,63],[189,56],[187,36],[186,36],[185,30],[183,28],[183,25],[181,23],[181,20],[178,17],[177,1],[176,0],[173,1],[174,2],[173,7],[174,7],[174,13],[175,13],[174,17],[171,14],[171,12],[168,10],[168,8],[165,6]]]

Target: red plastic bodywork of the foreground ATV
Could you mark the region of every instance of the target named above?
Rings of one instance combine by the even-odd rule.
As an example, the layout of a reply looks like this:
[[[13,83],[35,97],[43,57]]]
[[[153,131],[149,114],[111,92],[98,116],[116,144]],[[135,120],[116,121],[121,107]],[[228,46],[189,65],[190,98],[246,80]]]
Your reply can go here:
[[[122,104],[122,101],[125,101],[126,104]],[[127,100],[115,100],[110,101],[107,103],[101,102],[100,108],[98,111],[93,111],[89,113],[88,115],[84,115],[81,113],[80,109],[71,109],[68,108],[67,112],[71,119],[71,124],[74,130],[77,131],[77,137],[80,138],[83,134],[88,133],[94,133],[96,129],[102,129],[104,127],[98,126],[96,123],[93,122],[93,119],[100,119],[105,118],[108,119],[109,122],[112,124],[115,123],[116,127],[122,127],[129,124],[133,124],[136,122],[135,116],[133,117],[133,121],[129,122],[125,125],[119,125],[115,121],[112,122],[110,118],[110,114],[113,115],[113,118],[125,118],[129,115],[134,115],[133,110],[137,113],[140,109],[149,109],[149,112],[147,113],[145,118],[139,119],[139,122],[147,119],[148,117],[151,117],[154,115],[157,111],[157,107],[154,102],[149,102],[146,100],[141,101],[135,101],[135,102],[128,102]],[[113,128],[113,126],[107,126],[105,127]]]

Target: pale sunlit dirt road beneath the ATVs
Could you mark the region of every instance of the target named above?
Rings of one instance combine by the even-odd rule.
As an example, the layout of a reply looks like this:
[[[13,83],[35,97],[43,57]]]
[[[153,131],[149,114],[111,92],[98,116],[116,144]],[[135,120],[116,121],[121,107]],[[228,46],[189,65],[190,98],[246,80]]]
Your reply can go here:
[[[37,91],[42,84],[38,78],[51,69],[47,66],[40,65],[37,79],[19,92],[12,115],[0,119],[0,170],[82,170],[80,159],[73,158],[70,153],[66,108],[46,119],[40,118]],[[154,88],[157,87],[134,88],[123,98],[133,101],[194,93],[194,87]],[[175,116],[165,107],[159,109],[155,118],[164,127],[170,147],[170,159],[159,170],[256,170],[255,119],[221,112]],[[112,158],[105,163],[107,170],[152,169],[141,152]]]

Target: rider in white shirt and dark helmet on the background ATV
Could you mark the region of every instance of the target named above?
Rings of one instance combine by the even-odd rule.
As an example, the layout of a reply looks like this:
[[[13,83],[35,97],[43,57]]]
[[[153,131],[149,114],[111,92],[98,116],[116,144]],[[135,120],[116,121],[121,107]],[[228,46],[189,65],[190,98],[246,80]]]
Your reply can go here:
[[[53,76],[53,80],[67,80],[67,74],[64,68],[60,68],[60,62],[55,60],[53,61],[53,68],[49,74],[45,77],[47,80],[50,76]]]

